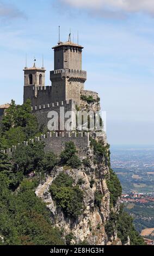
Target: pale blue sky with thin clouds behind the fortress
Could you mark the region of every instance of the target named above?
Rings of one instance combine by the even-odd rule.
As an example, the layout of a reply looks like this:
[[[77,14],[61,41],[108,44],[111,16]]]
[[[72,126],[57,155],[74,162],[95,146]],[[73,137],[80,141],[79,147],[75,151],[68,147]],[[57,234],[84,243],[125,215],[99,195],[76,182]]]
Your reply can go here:
[[[79,31],[85,88],[100,94],[108,142],[154,144],[153,0],[0,0],[0,105],[22,103],[26,53],[28,66],[44,53],[51,84],[58,26],[62,41]]]

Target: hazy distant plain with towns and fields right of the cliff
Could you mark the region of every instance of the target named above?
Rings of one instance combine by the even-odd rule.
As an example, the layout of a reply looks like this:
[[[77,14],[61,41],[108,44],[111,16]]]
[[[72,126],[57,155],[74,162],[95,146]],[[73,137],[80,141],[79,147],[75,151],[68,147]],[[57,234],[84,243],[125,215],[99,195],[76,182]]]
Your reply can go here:
[[[154,245],[154,147],[112,146],[111,164],[121,181],[121,203],[147,245]]]

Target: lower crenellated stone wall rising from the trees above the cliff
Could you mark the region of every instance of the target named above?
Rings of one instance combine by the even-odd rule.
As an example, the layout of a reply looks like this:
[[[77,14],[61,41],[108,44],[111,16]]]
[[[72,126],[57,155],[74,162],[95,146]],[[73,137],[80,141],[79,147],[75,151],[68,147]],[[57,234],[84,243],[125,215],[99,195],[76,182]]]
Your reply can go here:
[[[65,148],[65,143],[73,141],[78,149],[78,155],[84,156],[85,149],[90,147],[89,132],[47,132],[47,134],[24,141],[22,145],[27,146],[34,142],[44,142],[45,152],[53,151],[60,154]],[[13,145],[9,149],[1,150],[1,153],[12,155],[21,144]]]

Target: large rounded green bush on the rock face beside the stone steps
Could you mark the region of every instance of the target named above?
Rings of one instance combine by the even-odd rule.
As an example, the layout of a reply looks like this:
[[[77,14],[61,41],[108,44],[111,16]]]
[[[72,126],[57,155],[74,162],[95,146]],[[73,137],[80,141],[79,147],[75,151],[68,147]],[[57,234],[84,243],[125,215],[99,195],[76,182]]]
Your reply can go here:
[[[83,192],[78,186],[73,186],[73,179],[61,172],[52,182],[50,192],[53,199],[66,216],[81,215],[83,209]]]

